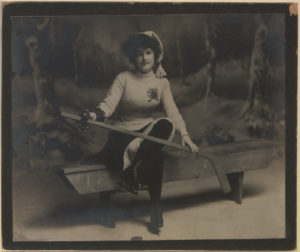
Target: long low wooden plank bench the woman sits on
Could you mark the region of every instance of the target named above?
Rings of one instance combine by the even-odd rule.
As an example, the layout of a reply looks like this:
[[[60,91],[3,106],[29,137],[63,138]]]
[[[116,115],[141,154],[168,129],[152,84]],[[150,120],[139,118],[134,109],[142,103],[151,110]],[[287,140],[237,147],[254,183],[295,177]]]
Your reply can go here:
[[[201,147],[214,157],[211,159],[197,159],[190,153],[166,148],[163,182],[205,178],[214,176],[215,169],[222,169],[233,200],[241,204],[244,172],[267,168],[279,147],[279,144],[267,140]],[[124,191],[104,165],[72,164],[64,168],[63,173],[79,194],[100,193],[102,199],[110,201],[111,193]]]

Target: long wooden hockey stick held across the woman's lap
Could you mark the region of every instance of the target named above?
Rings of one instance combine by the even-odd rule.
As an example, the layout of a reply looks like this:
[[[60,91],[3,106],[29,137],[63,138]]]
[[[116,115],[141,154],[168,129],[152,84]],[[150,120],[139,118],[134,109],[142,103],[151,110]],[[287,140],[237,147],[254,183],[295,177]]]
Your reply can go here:
[[[75,120],[75,121],[80,121],[81,120],[80,116],[70,114],[70,113],[67,113],[67,112],[62,112],[61,115],[65,118],[72,119],[72,120]],[[164,140],[164,139],[160,139],[160,138],[157,138],[157,137],[149,136],[147,134],[143,134],[143,133],[139,133],[139,132],[134,132],[134,131],[121,129],[119,127],[116,127],[116,126],[108,124],[108,123],[103,123],[103,122],[99,122],[99,121],[95,121],[95,120],[87,120],[87,123],[90,123],[90,124],[95,125],[95,126],[99,126],[101,128],[104,128],[104,129],[113,130],[113,131],[121,132],[121,133],[124,133],[124,134],[128,134],[128,135],[140,137],[140,138],[143,138],[143,139],[147,139],[147,140],[150,140],[150,141],[153,141],[153,142],[156,142],[156,143],[160,143],[160,144],[163,144],[163,145],[167,145],[167,146],[170,146],[170,147],[173,147],[173,148],[176,148],[176,149],[179,149],[179,150],[183,150],[183,151],[186,151],[186,152],[191,152],[191,150],[188,147],[180,145],[178,143],[174,143],[174,142],[167,141],[167,140]],[[219,168],[218,165],[217,166],[215,165],[215,163],[217,161],[216,157],[212,153],[204,151],[201,148],[198,149],[198,155],[202,156],[202,157],[204,157],[204,158],[206,158],[210,161],[210,163],[211,163],[212,167],[214,168],[214,170],[216,172],[216,175],[219,179],[219,182],[221,184],[223,192],[224,193],[230,192],[231,188],[230,188],[230,185],[229,185],[228,178],[227,178],[226,174],[224,173],[224,171],[221,168]]]

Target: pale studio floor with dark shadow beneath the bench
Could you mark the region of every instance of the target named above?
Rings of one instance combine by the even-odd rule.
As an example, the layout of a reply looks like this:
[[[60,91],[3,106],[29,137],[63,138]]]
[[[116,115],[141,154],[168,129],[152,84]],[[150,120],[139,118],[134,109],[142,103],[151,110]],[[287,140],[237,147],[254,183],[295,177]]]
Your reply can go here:
[[[146,192],[114,196],[116,227],[97,222],[98,195],[78,195],[52,172],[13,173],[14,241],[102,241],[285,237],[284,162],[248,172],[244,200],[222,194],[216,177],[165,184],[165,225],[160,236],[146,229]]]

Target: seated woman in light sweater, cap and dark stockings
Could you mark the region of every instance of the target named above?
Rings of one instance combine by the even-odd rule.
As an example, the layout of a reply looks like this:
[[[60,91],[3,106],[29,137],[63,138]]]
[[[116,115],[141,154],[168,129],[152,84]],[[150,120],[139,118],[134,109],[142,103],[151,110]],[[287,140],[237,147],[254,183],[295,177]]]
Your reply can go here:
[[[169,81],[161,66],[163,47],[158,36],[147,31],[129,37],[123,52],[134,64],[133,71],[120,73],[114,80],[106,98],[99,104],[94,120],[111,117],[119,128],[143,132],[154,137],[171,140],[175,128],[180,132],[182,144],[196,154],[198,147],[192,142],[170,89]],[[167,117],[154,119],[152,113],[162,105]],[[116,112],[116,113],[115,113]],[[103,150],[93,155],[111,172],[121,174],[121,185],[137,193],[139,185],[148,187],[151,199],[150,232],[158,234],[163,226],[160,208],[163,153],[162,144],[110,132]],[[88,159],[91,161],[91,158]]]

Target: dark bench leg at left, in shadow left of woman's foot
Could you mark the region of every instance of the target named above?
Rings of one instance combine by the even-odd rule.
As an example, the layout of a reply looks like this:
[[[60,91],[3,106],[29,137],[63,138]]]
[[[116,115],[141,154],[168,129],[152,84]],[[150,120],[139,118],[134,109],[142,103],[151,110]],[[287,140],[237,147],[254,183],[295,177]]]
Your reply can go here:
[[[115,216],[113,212],[113,205],[111,200],[112,192],[100,192],[100,202],[102,211],[100,213],[100,222],[107,227],[115,227]]]

